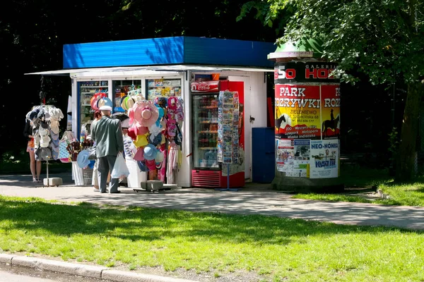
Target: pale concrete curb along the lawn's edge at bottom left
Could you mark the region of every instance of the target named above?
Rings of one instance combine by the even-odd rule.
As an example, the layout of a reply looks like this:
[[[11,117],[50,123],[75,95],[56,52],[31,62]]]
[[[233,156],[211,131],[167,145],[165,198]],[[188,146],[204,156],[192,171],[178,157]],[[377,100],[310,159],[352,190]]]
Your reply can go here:
[[[85,276],[90,278],[106,279],[116,282],[196,282],[180,278],[138,274],[130,271],[117,271],[102,266],[73,264],[71,262],[59,262],[52,259],[39,259],[37,257],[24,257],[1,253],[0,263],[11,264],[12,266],[24,266],[34,269],[55,271],[64,274]]]

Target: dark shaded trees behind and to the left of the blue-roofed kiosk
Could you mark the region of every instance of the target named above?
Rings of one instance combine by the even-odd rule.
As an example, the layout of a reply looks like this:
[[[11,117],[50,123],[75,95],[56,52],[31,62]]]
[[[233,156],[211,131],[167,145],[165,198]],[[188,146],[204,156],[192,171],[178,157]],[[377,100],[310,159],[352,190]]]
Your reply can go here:
[[[10,0],[0,9],[0,154],[26,149],[25,114],[40,104],[37,71],[61,69],[64,44],[195,36],[273,42],[254,18],[236,22],[245,0]],[[69,75],[45,76],[42,90],[65,111]],[[66,122],[61,122],[61,128]]]

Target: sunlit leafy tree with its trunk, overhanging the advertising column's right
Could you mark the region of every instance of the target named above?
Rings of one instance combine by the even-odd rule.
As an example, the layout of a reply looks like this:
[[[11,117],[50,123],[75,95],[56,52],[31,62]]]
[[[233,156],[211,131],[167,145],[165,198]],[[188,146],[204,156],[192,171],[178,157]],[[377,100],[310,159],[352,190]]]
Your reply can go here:
[[[401,82],[406,85],[401,148],[397,178],[413,176],[418,114],[424,78],[424,1],[423,0],[269,0],[249,2],[245,9],[267,13],[257,18],[269,25],[285,11],[294,11],[279,23],[284,33],[276,40],[305,42],[322,39],[324,55],[339,63],[337,74],[345,82],[356,82],[349,73],[357,70],[373,84]],[[372,97],[358,97],[372,99]]]

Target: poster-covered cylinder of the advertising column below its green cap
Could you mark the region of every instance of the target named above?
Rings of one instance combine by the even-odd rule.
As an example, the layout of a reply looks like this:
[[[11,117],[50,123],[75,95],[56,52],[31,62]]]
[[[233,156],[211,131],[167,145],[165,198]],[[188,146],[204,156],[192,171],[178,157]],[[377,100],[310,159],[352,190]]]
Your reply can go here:
[[[340,176],[340,83],[326,62],[277,62],[276,178],[305,188],[336,187]],[[313,189],[312,189],[313,190]]]

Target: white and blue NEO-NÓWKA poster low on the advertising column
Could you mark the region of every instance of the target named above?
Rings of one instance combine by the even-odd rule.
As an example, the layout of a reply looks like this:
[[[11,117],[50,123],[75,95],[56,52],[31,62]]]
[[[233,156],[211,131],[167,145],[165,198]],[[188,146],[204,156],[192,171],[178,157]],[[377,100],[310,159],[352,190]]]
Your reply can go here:
[[[311,140],[310,178],[338,177],[338,140]]]

